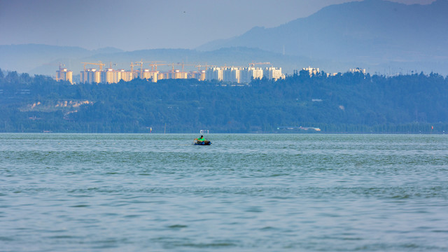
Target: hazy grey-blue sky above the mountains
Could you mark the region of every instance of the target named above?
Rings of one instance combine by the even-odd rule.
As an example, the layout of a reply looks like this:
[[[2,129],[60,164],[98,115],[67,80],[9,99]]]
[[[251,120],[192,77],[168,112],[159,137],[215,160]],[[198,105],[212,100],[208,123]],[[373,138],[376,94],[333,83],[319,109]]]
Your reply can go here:
[[[353,0],[0,0],[0,45],[195,48],[349,1]]]

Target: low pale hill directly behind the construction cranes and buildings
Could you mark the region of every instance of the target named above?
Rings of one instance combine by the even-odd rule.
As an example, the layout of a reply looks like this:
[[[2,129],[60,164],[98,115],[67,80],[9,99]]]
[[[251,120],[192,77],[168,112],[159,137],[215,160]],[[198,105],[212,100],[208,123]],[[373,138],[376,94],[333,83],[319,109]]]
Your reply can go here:
[[[207,52],[188,49],[151,49],[98,54],[90,57],[72,59],[73,68],[71,70],[73,74],[78,74],[83,69],[83,64],[80,64],[80,62],[98,61],[106,63],[107,66],[111,62],[112,67],[115,69],[130,69],[131,62],[139,62],[141,59],[144,62],[159,62],[161,65],[158,66],[158,70],[160,71],[172,69],[173,63],[175,69],[181,69],[183,64],[185,71],[193,71],[197,70],[197,65],[202,65],[202,69],[205,69],[204,65],[248,66],[252,62],[270,62],[273,66],[282,67],[284,69],[283,72],[293,73],[293,70],[308,65],[311,62],[311,59],[306,57],[281,55],[258,48],[220,48]],[[40,66],[33,71],[43,72],[43,67]],[[145,63],[144,68],[150,68],[149,63]]]

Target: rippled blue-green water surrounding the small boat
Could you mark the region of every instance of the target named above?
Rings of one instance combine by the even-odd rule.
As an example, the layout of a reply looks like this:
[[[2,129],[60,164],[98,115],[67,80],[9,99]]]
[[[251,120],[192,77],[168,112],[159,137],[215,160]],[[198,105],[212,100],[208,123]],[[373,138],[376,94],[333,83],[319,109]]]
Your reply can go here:
[[[448,251],[448,136],[0,134],[0,251]]]

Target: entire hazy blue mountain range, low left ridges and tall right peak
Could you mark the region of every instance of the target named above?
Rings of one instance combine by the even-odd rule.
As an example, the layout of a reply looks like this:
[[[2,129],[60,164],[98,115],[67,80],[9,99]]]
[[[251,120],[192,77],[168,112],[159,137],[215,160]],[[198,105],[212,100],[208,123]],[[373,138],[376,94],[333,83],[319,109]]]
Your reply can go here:
[[[80,62],[103,62],[130,69],[131,62],[247,66],[271,62],[283,73],[313,66],[328,73],[360,67],[370,73],[448,74],[448,0],[405,5],[365,0],[327,6],[307,18],[274,28],[254,27],[241,36],[211,41],[197,50],[153,49],[125,52],[52,45],[0,45],[0,68],[54,76],[59,62],[76,76]],[[91,67],[91,66],[89,66]],[[149,68],[149,65],[145,65]],[[160,66],[159,70],[172,66]],[[174,66],[181,69],[181,65]]]

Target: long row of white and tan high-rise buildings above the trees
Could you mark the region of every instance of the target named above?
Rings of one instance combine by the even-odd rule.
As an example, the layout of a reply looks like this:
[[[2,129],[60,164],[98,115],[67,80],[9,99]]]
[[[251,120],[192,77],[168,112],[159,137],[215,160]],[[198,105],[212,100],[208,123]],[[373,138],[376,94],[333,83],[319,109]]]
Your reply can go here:
[[[136,62],[139,63],[139,62]],[[268,63],[268,62],[267,62]],[[131,64],[130,70],[125,69],[113,69],[112,67],[103,69],[102,63],[87,63],[83,62],[84,71],[80,72],[80,83],[118,83],[120,80],[130,81],[134,78],[141,78],[157,82],[162,79],[186,79],[195,78],[197,80],[218,80],[230,83],[250,83],[251,80],[256,78],[268,78],[278,80],[279,78],[285,78],[285,74],[281,73],[281,68],[269,66],[264,69],[261,67],[255,67],[255,64],[249,64],[248,67],[235,67],[235,66],[205,66],[205,70],[199,69],[197,71],[181,71],[174,69],[161,72],[157,70],[157,64],[150,64],[151,69],[144,69],[141,64],[140,69],[134,69],[133,66],[137,64]],[[87,64],[99,65],[97,68],[86,68]],[[263,63],[264,64],[264,63]],[[154,68],[155,66],[155,68]],[[182,67],[183,69],[183,67]],[[56,80],[66,80],[73,83],[73,72],[59,66],[59,70],[56,71]]]

